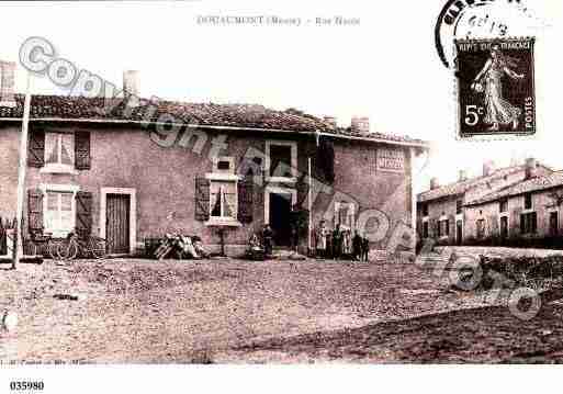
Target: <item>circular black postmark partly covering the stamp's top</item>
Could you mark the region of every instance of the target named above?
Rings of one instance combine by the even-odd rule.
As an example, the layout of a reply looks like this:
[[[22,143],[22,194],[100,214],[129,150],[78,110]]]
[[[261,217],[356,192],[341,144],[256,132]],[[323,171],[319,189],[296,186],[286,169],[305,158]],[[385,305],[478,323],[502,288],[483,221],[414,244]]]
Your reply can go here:
[[[436,50],[452,68],[454,40],[536,36],[545,25],[525,0],[448,0],[436,22]]]

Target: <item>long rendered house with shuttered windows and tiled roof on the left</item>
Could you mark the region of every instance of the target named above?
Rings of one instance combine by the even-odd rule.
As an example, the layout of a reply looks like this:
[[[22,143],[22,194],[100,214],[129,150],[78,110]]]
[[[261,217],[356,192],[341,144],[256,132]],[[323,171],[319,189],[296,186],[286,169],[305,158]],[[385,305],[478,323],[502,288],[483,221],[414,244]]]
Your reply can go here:
[[[24,97],[13,91],[15,65],[0,71],[0,217],[14,217]],[[221,227],[226,252],[238,254],[264,224],[288,246],[295,206],[312,207],[309,228],[327,213],[329,225],[354,228],[362,210],[383,206],[391,226],[414,227],[410,169],[425,142],[373,133],[368,119],[338,127],[296,110],[153,102],[137,98],[138,83],[138,72],[124,72],[131,100],[32,97],[26,233],[80,229],[127,255],[165,233],[213,249]],[[162,126],[166,116],[183,126]]]

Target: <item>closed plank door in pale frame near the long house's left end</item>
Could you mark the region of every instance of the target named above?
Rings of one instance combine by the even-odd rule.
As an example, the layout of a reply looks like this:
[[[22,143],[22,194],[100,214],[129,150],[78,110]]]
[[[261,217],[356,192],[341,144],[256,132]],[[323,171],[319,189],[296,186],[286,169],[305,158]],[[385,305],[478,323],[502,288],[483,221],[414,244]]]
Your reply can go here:
[[[130,252],[128,194],[108,194],[105,203],[105,240],[109,254]]]

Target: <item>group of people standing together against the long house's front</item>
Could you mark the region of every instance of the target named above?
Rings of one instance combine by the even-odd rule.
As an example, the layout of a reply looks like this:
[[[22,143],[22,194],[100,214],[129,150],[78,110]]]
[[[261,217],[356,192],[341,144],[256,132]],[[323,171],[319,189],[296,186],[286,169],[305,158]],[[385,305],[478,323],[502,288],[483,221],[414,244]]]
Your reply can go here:
[[[330,230],[326,221],[320,221],[315,232],[316,257],[324,259],[351,259],[368,261],[370,243],[360,236],[358,230],[353,233],[348,228],[340,228],[337,224]]]

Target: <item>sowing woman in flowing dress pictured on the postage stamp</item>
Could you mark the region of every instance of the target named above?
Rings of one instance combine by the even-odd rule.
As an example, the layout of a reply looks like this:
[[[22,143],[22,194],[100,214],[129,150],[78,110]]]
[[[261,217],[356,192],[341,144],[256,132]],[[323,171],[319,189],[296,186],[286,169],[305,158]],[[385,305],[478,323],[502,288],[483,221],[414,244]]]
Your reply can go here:
[[[484,90],[486,115],[484,122],[492,124],[491,131],[498,131],[499,124],[513,124],[518,127],[518,119],[522,111],[503,98],[503,76],[522,79],[523,74],[517,74],[511,68],[517,66],[516,59],[505,56],[498,45],[491,48],[491,58],[477,74],[471,88],[477,92]],[[483,89],[484,88],[484,89]]]

